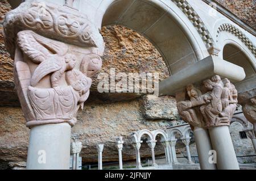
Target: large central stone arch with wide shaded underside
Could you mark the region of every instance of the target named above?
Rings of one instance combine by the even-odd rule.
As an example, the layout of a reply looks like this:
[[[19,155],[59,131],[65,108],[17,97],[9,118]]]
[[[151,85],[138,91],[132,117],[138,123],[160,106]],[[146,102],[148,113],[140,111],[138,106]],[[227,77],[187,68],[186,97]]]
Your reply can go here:
[[[209,56],[200,31],[173,1],[106,0],[98,9],[98,28],[119,24],[137,31],[158,49],[170,75]]]

